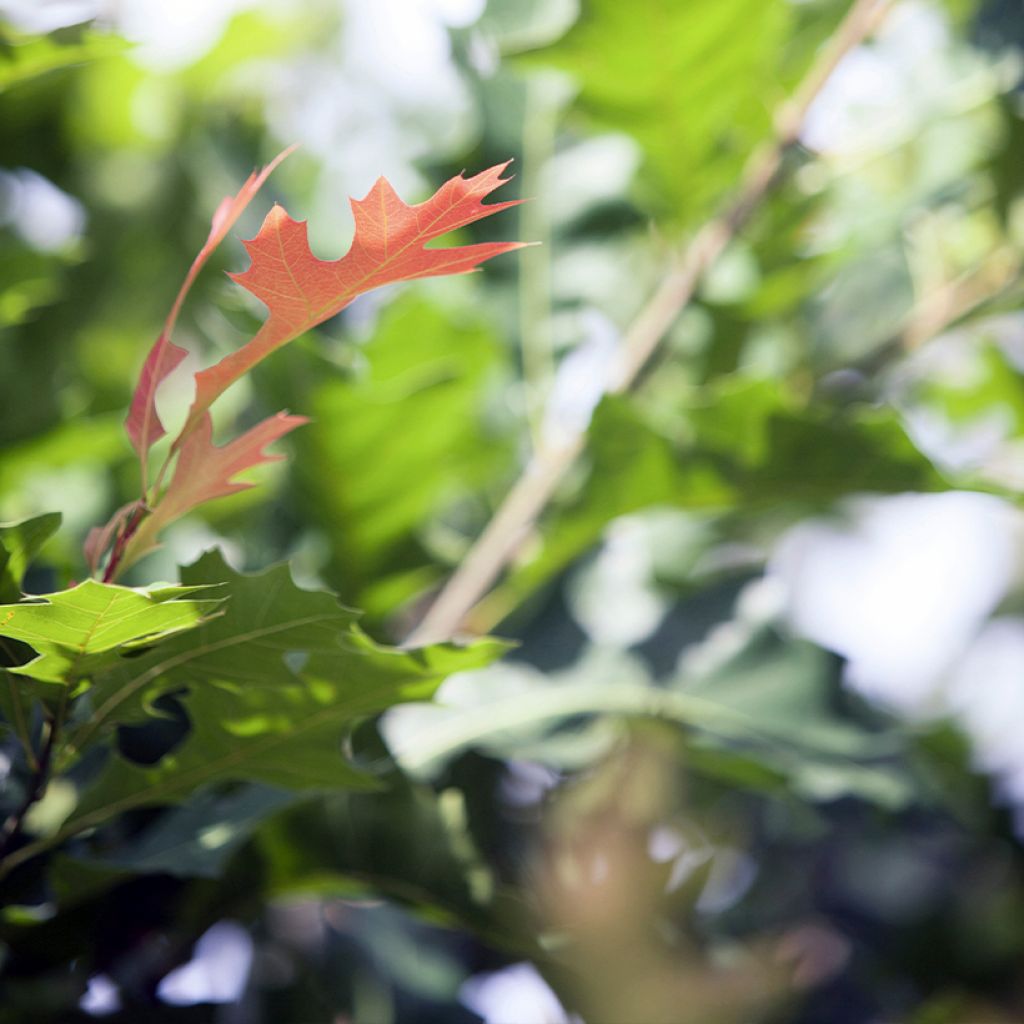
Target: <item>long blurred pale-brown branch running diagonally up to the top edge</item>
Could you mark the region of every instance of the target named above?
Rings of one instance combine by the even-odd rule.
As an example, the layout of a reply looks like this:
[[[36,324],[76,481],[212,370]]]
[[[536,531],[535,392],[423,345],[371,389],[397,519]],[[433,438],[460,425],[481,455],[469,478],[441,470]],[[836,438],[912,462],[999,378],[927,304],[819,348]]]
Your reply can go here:
[[[689,303],[703,274],[750,221],[778,178],[786,152],[797,142],[807,112],[843,57],[879,26],[893,0],[854,0],[846,17],[790,99],[776,112],[774,138],[755,151],[725,211],[694,236],[623,338],[608,392],[628,391],[657,350],[666,332]],[[539,447],[476,544],[452,574],[408,643],[447,640],[487,593],[528,535],[586,444],[582,432]]]

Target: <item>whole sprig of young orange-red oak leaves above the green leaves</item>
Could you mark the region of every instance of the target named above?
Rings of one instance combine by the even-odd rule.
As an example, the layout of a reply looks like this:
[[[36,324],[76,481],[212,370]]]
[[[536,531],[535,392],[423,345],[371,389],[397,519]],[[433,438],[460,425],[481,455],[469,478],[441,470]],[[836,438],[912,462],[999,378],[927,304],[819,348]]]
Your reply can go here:
[[[506,183],[502,172],[507,163],[471,178],[458,175],[416,206],[403,203],[391,185],[379,178],[366,199],[351,201],[355,218],[352,245],[341,259],[333,261],[317,259],[309,249],[305,222],[292,220],[275,206],[256,238],[245,243],[251,258],[249,269],[231,275],[266,305],[266,322],[248,344],[196,375],[196,398],[188,417],[151,488],[150,450],[166,432],[157,414],[157,389],[185,355],[184,349],[171,341],[181,305],[211,253],[289,153],[291,150],[286,150],[262,171],[254,172],[238,195],[221,202],[206,243],[185,275],[164,329],[142,367],[125,423],[141,464],[142,493],[138,500],[115,513],[105,526],[90,531],[86,541],[86,558],[94,572],[110,551],[104,581],[116,579],[157,547],[160,531],[175,519],[205,502],[252,486],[236,478],[247,469],[282,458],[267,455],[266,446],[306,422],[304,417],[279,413],[218,447],[213,443],[209,410],[234,381],[270,352],[344,309],[364,292],[415,278],[467,273],[484,260],[523,245],[490,242],[427,248],[442,234],[522,202],[483,203]],[[175,458],[177,462],[173,463]],[[162,487],[171,465],[171,481]]]

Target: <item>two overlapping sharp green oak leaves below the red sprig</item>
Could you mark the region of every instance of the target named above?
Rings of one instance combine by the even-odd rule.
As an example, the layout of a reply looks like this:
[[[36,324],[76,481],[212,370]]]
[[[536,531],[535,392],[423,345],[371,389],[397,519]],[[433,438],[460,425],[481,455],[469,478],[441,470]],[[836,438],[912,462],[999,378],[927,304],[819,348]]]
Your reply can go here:
[[[286,566],[246,577],[210,554],[181,578],[180,587],[150,592],[88,581],[45,604],[14,605],[16,615],[7,610],[7,635],[40,655],[11,671],[69,684],[88,677],[92,684],[87,715],[57,740],[60,770],[109,743],[115,729],[160,716],[164,694],[188,717],[187,736],[154,765],[111,754],[58,839],[136,807],[178,803],[217,782],[373,785],[342,756],[347,732],[394,703],[429,696],[445,675],[503,650],[487,642],[411,652],[382,647],[331,594],[297,588]],[[182,600],[211,588],[215,601]],[[211,616],[221,601],[223,614]]]

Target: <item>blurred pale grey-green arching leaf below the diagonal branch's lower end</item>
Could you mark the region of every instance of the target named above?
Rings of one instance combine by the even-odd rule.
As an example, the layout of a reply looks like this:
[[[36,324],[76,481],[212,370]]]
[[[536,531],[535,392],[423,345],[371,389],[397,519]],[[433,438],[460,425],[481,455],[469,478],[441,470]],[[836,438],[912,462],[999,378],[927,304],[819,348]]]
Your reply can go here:
[[[414,775],[435,776],[468,749],[565,770],[607,753],[621,736],[612,716],[649,717],[694,730],[696,764],[708,775],[769,791],[784,779],[811,800],[856,795],[901,806],[912,787],[902,769],[885,763],[899,745],[831,711],[833,677],[825,652],[773,637],[755,637],[710,676],[681,673],[668,686],[635,657],[594,649],[561,673],[511,664],[461,678],[434,705],[392,712],[385,735]],[[582,716],[598,720],[582,730]]]

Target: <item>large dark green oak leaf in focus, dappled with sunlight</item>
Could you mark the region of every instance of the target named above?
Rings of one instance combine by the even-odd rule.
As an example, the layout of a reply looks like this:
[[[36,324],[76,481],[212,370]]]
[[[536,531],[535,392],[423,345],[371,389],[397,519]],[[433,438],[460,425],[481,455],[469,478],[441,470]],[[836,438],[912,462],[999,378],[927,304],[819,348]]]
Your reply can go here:
[[[211,553],[184,568],[182,580],[222,581],[224,614],[132,659],[130,670],[126,662],[97,679],[95,711],[69,742],[84,750],[168,691],[178,693],[191,730],[152,766],[113,755],[66,834],[134,807],[178,803],[213,782],[372,786],[342,754],[351,728],[395,703],[429,697],[445,676],[488,664],[507,647],[486,640],[464,648],[381,646],[332,594],[300,590],[284,565],[243,575]]]

